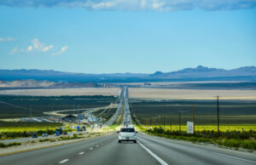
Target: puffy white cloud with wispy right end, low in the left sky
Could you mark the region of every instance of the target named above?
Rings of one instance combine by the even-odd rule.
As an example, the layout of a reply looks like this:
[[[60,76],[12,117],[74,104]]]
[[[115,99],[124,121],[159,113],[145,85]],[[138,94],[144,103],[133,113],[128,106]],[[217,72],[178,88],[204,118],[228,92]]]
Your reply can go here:
[[[32,39],[32,45],[29,45],[27,48],[13,48],[9,54],[16,54],[16,53],[46,53],[50,51],[50,54],[62,54],[67,50],[67,46],[62,47],[61,51],[54,53],[54,45],[50,44],[48,46],[44,46],[44,43],[40,42],[38,38]]]

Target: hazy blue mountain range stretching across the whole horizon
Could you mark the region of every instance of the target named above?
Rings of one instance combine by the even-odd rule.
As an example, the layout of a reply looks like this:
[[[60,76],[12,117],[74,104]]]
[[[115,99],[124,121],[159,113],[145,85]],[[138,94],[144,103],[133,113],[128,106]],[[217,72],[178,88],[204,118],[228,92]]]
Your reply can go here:
[[[55,83],[140,83],[175,81],[248,81],[256,82],[256,67],[232,70],[197,66],[180,71],[143,73],[86,74],[53,70],[0,70],[0,80],[37,80]]]

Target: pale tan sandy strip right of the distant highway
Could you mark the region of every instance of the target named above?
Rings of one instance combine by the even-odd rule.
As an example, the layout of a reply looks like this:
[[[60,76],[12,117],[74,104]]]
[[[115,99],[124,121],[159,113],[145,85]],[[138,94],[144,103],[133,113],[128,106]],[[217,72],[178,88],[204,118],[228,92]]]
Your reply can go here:
[[[205,90],[168,88],[129,88],[131,99],[161,100],[256,100],[256,90]]]

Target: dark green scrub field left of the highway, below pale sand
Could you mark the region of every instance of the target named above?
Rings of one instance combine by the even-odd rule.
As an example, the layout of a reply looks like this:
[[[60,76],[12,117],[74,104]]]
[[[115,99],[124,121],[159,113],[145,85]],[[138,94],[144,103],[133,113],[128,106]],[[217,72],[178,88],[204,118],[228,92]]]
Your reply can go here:
[[[94,108],[116,102],[113,96],[16,96],[0,95],[0,119],[42,117],[44,111]]]

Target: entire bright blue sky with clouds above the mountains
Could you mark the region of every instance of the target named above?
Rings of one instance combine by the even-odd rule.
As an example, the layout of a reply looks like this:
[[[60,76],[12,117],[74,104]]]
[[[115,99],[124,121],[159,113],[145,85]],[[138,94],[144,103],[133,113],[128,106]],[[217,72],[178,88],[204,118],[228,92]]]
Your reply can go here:
[[[0,0],[0,69],[151,73],[256,65],[253,0],[91,2]]]

